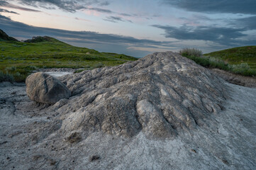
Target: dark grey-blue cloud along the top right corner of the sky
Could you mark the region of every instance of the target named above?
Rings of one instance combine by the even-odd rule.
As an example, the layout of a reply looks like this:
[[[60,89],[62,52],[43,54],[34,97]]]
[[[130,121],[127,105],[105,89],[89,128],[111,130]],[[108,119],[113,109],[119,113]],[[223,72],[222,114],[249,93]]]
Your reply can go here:
[[[255,0],[162,0],[165,4],[184,8],[187,11],[206,13],[256,14]]]

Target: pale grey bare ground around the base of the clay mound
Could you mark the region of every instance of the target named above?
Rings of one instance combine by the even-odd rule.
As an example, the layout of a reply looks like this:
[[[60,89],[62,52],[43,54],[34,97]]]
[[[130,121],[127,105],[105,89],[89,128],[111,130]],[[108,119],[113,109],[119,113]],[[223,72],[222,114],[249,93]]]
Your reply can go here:
[[[256,169],[256,89],[226,86],[225,110],[206,127],[165,140],[94,132],[70,143],[61,115],[30,101],[25,84],[0,83],[0,169]]]

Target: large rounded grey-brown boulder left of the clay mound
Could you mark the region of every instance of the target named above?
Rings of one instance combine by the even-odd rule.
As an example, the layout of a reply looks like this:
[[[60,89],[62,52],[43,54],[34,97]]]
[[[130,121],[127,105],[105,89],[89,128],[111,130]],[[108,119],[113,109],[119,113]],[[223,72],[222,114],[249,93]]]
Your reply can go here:
[[[54,104],[62,98],[69,98],[71,92],[65,84],[49,74],[38,72],[26,79],[26,91],[32,101]]]

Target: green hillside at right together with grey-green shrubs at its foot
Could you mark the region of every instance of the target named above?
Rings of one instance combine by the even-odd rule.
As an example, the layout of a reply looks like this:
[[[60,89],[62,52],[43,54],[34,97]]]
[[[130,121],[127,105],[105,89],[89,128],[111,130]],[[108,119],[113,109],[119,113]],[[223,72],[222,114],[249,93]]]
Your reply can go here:
[[[194,48],[186,48],[179,53],[207,68],[223,69],[243,76],[256,76],[256,46],[236,47],[206,55]]]

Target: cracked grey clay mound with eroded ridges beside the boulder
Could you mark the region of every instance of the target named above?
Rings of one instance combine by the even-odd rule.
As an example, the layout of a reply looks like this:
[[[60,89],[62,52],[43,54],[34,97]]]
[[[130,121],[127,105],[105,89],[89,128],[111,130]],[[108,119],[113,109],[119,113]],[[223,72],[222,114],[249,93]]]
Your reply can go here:
[[[62,77],[72,98],[53,106],[62,130],[170,137],[205,125],[223,108],[223,81],[174,52]]]

